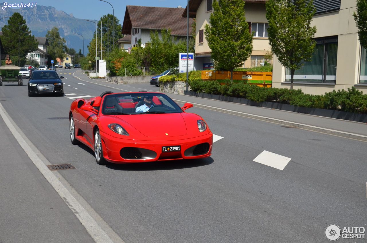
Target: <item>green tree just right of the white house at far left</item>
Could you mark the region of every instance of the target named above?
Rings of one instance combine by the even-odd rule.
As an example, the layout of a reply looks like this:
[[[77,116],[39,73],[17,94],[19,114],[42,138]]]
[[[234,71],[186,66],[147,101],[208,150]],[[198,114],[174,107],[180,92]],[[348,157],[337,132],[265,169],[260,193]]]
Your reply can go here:
[[[66,41],[60,36],[59,29],[57,27],[52,28],[47,31],[46,34],[49,47],[47,48],[47,53],[50,55],[52,60],[57,58],[62,59],[65,57],[65,52],[68,50],[66,46]]]

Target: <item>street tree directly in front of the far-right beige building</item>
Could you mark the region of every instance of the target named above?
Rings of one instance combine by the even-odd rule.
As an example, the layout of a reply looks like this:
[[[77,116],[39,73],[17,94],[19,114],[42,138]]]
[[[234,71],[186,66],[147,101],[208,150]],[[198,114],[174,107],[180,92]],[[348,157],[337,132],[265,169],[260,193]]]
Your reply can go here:
[[[291,71],[291,90],[295,70],[311,60],[316,47],[316,26],[311,27],[315,12],[312,0],[266,2],[269,44],[279,62]]]

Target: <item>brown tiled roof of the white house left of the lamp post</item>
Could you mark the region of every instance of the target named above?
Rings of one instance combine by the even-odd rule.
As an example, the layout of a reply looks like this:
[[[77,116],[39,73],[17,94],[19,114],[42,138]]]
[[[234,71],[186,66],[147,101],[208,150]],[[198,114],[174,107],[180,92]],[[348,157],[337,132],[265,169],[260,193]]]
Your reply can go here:
[[[186,36],[187,20],[182,18],[183,8],[126,6],[121,33],[131,34],[131,28],[162,30],[171,29],[171,35]],[[189,18],[191,36],[193,19]]]

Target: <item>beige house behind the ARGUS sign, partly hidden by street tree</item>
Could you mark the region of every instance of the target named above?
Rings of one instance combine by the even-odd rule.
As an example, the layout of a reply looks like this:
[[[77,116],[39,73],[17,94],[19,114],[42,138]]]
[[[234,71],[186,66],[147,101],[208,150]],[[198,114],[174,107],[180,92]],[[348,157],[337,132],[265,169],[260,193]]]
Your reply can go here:
[[[265,16],[265,2],[266,0],[245,0],[245,17],[250,32],[254,32],[254,38],[251,56],[244,62],[244,68],[260,66],[265,62],[265,55],[270,54],[268,32],[266,32],[268,21]],[[213,59],[205,38],[204,26],[210,24],[209,18],[213,11],[212,0],[190,0],[188,5],[189,18],[196,18],[195,70],[210,69],[213,67]],[[183,18],[187,18],[187,11],[186,6],[182,14]]]

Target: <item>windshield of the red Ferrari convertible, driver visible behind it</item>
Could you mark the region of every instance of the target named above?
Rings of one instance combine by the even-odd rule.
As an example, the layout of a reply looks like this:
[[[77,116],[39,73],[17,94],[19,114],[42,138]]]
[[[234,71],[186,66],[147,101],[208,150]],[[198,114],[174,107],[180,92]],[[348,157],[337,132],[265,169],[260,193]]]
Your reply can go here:
[[[150,115],[180,113],[181,108],[167,95],[159,93],[110,94],[103,99],[103,115]]]

